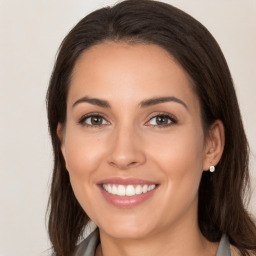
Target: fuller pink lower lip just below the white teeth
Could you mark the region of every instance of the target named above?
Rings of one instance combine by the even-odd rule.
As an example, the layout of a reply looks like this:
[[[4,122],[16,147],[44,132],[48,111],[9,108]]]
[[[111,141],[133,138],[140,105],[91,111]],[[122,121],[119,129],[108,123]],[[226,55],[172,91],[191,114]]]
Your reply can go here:
[[[99,186],[103,197],[112,205],[119,207],[119,208],[131,208],[137,206],[139,204],[144,203],[148,199],[150,199],[157,187],[147,193],[142,193],[140,195],[134,196],[117,196],[108,193],[105,191],[102,186]]]

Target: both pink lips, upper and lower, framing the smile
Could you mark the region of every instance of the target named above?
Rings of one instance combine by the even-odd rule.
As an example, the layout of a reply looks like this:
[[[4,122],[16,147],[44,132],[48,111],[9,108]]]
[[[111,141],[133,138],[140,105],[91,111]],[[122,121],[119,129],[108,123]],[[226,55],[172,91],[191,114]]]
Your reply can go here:
[[[156,184],[156,182],[152,181],[147,181],[147,180],[142,180],[142,179],[136,179],[136,178],[109,178],[109,179],[104,179],[101,180],[100,182],[97,183],[103,197],[107,200],[108,203],[119,207],[119,208],[132,208],[135,207],[139,204],[142,204],[143,202],[149,200],[154,193],[156,192],[158,186],[147,192],[147,193],[142,193],[140,195],[134,195],[134,196],[117,196],[108,193],[105,191],[102,187],[102,184],[120,184],[120,185],[151,185],[151,184]]]

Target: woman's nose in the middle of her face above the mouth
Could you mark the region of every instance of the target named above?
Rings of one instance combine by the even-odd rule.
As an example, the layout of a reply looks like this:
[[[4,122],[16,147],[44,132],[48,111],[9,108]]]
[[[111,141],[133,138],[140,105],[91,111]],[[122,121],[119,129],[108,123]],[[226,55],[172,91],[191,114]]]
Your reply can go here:
[[[114,132],[108,163],[120,170],[142,165],[146,161],[143,143],[135,129],[123,128]]]

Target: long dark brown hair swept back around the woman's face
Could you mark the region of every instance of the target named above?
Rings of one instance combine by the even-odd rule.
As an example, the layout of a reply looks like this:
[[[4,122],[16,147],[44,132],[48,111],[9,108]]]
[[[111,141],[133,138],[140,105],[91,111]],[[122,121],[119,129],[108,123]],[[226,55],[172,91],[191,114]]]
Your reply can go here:
[[[168,51],[193,81],[204,129],[220,119],[225,127],[223,156],[211,174],[203,172],[198,223],[210,241],[227,234],[241,255],[256,254],[256,227],[245,210],[248,143],[225,58],[208,30],[183,11],[157,1],[127,0],[83,18],[63,40],[52,72],[47,109],[54,152],[49,198],[49,236],[54,255],[70,256],[89,221],[72,191],[57,137],[65,124],[71,74],[83,51],[104,41],[155,44]]]

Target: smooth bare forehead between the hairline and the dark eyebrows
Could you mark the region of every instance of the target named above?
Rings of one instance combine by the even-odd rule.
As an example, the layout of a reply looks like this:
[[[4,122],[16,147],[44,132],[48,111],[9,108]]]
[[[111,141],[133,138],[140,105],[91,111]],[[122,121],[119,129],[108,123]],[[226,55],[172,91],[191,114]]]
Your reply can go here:
[[[81,96],[122,99],[175,96],[197,100],[181,65],[153,44],[104,42],[84,51],[72,74],[68,104]]]

